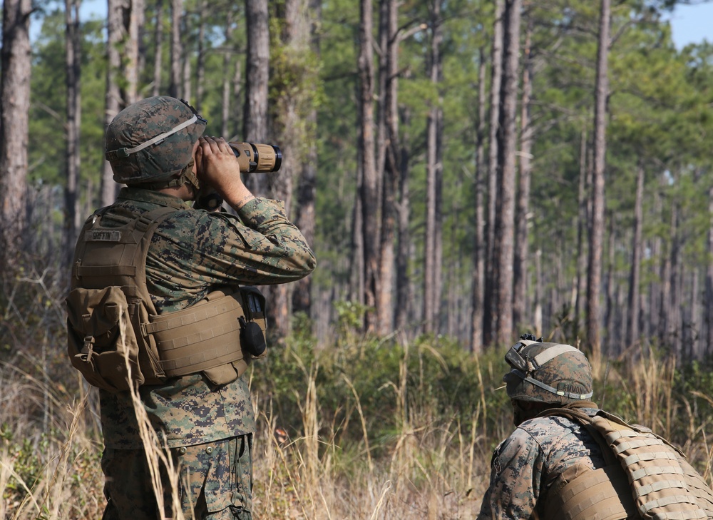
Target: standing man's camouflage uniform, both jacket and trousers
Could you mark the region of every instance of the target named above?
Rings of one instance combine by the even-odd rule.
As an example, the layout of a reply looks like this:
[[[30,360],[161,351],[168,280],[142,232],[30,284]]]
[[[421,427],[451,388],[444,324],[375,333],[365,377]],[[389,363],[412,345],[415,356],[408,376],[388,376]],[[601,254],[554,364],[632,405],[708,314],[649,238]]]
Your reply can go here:
[[[289,223],[282,203],[273,200],[252,200],[237,218],[194,210],[153,190],[123,188],[103,225],[121,225],[160,205],[176,211],[156,230],[146,259],[148,290],[159,314],[189,307],[212,290],[299,280],[314,269],[302,233]],[[139,390],[153,427],[163,433],[181,467],[186,518],[249,519],[255,414],[245,377],[215,387],[192,374]],[[155,519],[130,395],[101,391],[100,399],[109,499],[104,518]]]

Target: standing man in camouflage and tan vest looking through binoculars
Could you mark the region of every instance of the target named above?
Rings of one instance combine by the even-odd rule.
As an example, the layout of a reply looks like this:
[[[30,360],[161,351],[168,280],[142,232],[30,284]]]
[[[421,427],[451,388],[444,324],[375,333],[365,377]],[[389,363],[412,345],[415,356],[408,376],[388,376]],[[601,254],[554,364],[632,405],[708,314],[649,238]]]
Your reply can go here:
[[[252,518],[255,412],[245,369],[265,355],[253,285],[315,267],[284,205],[256,198],[222,138],[192,106],[155,96],[106,130],[116,202],[87,220],[68,303],[68,350],[98,386],[105,520]],[[193,207],[212,188],[236,215]],[[130,387],[175,472],[148,464]],[[152,467],[153,466],[153,467]]]

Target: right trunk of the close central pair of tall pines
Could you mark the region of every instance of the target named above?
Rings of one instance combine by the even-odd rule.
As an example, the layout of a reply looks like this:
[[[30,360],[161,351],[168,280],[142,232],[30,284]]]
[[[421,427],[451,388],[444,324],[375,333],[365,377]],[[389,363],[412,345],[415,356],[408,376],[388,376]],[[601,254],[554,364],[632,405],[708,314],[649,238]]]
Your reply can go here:
[[[384,182],[381,188],[381,237],[379,244],[379,287],[376,295],[376,320],[381,335],[394,327],[394,240],[396,239],[396,190],[401,174],[401,144],[399,143],[398,72],[399,72],[399,7],[397,0],[381,0],[386,4],[386,78],[384,81]]]

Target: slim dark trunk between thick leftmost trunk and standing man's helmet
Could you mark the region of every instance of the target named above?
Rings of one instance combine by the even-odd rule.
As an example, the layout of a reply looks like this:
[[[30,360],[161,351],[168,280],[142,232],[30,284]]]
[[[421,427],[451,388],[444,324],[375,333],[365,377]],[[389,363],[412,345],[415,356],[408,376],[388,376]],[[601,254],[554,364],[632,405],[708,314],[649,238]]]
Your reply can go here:
[[[66,85],[67,133],[66,165],[67,184],[64,188],[63,262],[71,265],[74,244],[81,225],[79,209],[79,127],[81,125],[81,32],[79,31],[80,0],[65,0],[66,23]]]

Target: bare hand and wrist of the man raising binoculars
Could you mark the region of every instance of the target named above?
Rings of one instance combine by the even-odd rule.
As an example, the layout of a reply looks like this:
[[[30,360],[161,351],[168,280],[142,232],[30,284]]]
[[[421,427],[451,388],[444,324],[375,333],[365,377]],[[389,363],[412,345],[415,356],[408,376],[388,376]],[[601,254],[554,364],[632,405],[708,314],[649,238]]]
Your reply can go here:
[[[215,188],[236,210],[255,198],[242,183],[240,164],[225,139],[199,138],[195,163],[198,180]]]

